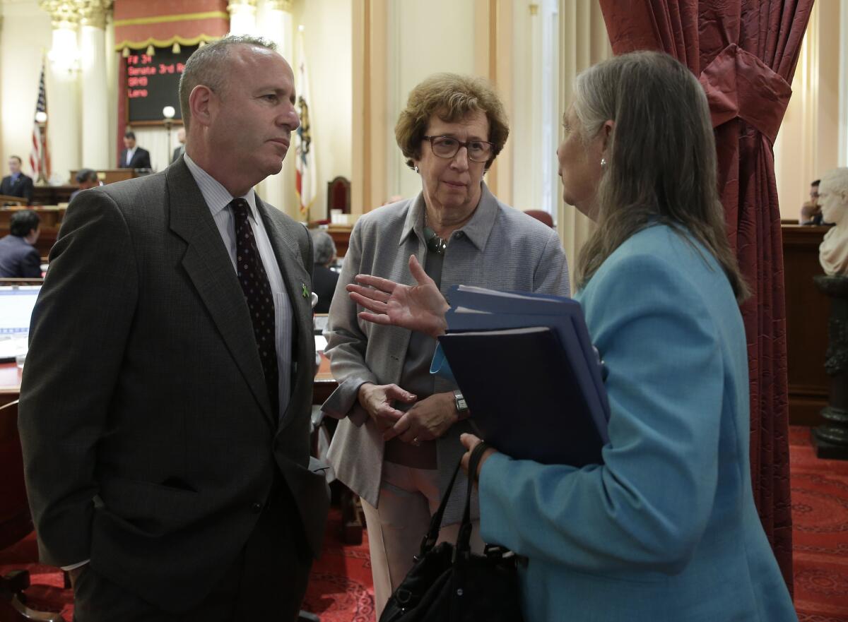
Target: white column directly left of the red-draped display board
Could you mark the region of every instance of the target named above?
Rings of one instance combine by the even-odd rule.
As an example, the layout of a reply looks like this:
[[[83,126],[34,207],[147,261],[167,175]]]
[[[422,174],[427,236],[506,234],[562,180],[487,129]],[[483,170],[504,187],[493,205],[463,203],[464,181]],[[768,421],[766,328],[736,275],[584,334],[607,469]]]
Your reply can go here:
[[[106,17],[112,0],[77,0],[81,14],[82,165],[109,168]]]

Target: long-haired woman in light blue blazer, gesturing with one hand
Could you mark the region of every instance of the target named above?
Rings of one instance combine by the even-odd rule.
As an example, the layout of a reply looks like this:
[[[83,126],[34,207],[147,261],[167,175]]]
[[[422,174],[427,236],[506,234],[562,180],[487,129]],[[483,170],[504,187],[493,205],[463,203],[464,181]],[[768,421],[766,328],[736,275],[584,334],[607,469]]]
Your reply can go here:
[[[576,298],[609,370],[610,442],[582,469],[489,449],[483,539],[526,558],[532,622],[797,620],[751,491],[747,288],[704,92],[666,54],[625,54],[577,78],[563,125],[563,196],[598,224]],[[437,335],[444,301],[415,272],[417,287],[364,279],[376,289],[351,296]]]

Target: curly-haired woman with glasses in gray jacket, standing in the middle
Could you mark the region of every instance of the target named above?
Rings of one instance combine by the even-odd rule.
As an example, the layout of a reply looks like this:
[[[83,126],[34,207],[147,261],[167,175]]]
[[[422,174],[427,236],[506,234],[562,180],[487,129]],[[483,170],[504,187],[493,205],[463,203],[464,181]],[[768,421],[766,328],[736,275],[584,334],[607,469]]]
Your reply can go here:
[[[340,421],[329,458],[362,497],[377,618],[412,565],[471,414],[456,386],[429,374],[435,339],[361,320],[343,288],[363,273],[413,284],[415,255],[443,293],[463,283],[567,296],[554,230],[500,203],[483,182],[508,135],[503,104],[485,81],[438,74],[416,86],[395,136],[421,192],[357,221],[330,308],[326,354],[339,386],[322,408]],[[441,539],[456,537],[464,482],[458,487]],[[472,542],[482,548],[477,530],[478,521]]]

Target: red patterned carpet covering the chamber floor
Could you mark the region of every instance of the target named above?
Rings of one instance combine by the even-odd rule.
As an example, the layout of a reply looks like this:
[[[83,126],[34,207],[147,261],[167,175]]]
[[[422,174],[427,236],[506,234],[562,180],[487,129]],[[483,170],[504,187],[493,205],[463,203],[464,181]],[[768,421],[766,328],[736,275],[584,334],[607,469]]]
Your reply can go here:
[[[800,622],[848,622],[848,461],[818,460],[810,431],[790,430],[792,517],[795,523],[795,607]],[[374,592],[367,534],[360,546],[338,540],[340,518],[327,527],[326,550],[312,569],[304,609],[321,622],[374,622]],[[61,611],[70,622],[73,601],[62,575],[34,564],[33,536],[0,551],[0,575],[31,572],[31,606]]]

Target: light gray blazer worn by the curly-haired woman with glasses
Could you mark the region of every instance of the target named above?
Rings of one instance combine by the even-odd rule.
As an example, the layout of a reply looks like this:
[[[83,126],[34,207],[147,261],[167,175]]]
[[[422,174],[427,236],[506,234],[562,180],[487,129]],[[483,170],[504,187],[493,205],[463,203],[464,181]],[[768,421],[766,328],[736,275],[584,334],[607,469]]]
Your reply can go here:
[[[350,301],[344,287],[360,273],[414,284],[408,260],[415,254],[424,264],[427,245],[422,229],[424,197],[377,208],[360,218],[350,235],[342,275],[332,299],[326,353],[338,389],[322,409],[341,419],[332,439],[329,459],[338,479],[377,507],[382,477],[382,434],[357,393],[364,382],[398,383],[404,366],[410,331],[397,326],[363,322],[362,310]],[[483,195],[471,220],[451,236],[442,269],[441,290],[465,284],[501,290],[568,295],[568,266],[554,230],[538,220],[500,203],[483,184]],[[456,388],[436,378],[436,392]],[[436,443],[439,489],[448,480],[463,453],[462,432],[472,431],[460,421]],[[465,504],[465,480],[457,482],[445,511],[445,524],[459,522]]]

